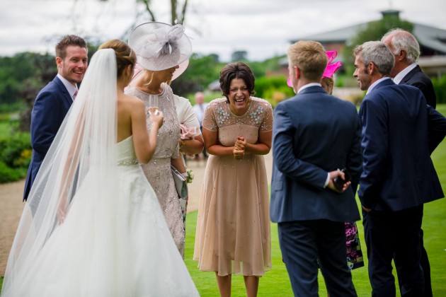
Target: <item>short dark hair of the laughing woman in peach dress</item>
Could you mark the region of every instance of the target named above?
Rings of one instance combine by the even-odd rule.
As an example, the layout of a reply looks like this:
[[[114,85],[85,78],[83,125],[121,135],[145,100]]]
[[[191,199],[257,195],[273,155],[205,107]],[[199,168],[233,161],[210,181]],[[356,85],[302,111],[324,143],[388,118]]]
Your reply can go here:
[[[227,102],[229,103],[229,88],[231,86],[231,81],[234,78],[241,78],[246,83],[246,87],[248,88],[248,92],[250,95],[254,95],[256,92],[254,91],[254,74],[251,71],[251,68],[244,62],[236,62],[229,63],[223,67],[222,71],[220,71],[220,88],[222,89],[222,95],[227,98]]]

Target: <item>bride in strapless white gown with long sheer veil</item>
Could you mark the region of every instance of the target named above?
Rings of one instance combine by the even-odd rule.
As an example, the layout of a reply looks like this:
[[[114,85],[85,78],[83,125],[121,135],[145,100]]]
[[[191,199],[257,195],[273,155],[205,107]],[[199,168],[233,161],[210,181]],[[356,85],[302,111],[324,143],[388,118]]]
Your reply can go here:
[[[141,100],[123,93],[135,53],[93,55],[25,204],[1,297],[198,296],[139,162],[156,147]],[[117,79],[118,78],[118,79]]]

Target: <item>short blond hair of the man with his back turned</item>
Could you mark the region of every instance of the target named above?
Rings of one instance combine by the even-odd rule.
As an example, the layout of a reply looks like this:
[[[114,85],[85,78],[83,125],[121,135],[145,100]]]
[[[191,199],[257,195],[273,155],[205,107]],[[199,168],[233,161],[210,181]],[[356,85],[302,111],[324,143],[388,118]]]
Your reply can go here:
[[[287,50],[290,66],[297,66],[309,81],[321,81],[328,58],[324,47],[316,41],[301,40]]]

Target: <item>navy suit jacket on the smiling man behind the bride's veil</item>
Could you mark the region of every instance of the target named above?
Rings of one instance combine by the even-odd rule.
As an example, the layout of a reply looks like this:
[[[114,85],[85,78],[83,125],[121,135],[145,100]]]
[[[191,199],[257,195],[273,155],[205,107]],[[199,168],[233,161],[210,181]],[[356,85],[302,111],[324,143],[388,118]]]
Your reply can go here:
[[[42,88],[35,98],[31,112],[33,156],[26,176],[23,200],[28,199],[40,165],[72,103],[71,95],[57,76]]]

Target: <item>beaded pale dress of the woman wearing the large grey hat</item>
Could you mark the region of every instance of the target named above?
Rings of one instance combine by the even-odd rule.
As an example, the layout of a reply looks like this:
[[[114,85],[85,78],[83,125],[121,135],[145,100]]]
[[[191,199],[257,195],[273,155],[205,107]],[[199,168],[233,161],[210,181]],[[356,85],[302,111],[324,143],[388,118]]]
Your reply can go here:
[[[184,257],[185,228],[181,204],[175,189],[175,183],[171,173],[171,158],[178,158],[180,139],[180,124],[176,115],[176,107],[173,103],[172,89],[163,83],[164,91],[159,94],[159,110],[164,114],[164,124],[159,129],[154,156],[147,164],[142,164],[142,170],[154,188],[156,197],[166,218],[167,226],[171,231],[173,240],[178,250]],[[149,94],[137,88],[127,88],[125,93],[133,95],[144,101],[149,107]],[[147,117],[147,129],[151,129],[150,116]]]

